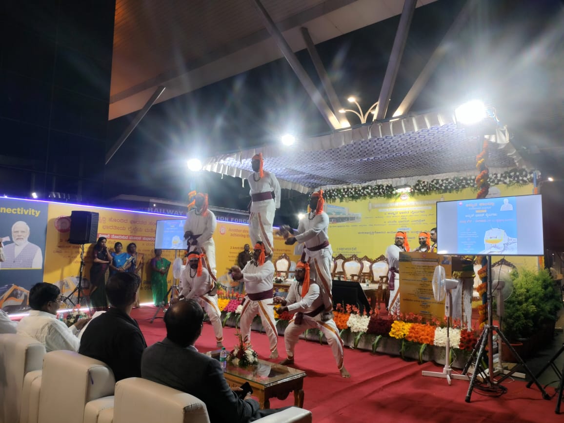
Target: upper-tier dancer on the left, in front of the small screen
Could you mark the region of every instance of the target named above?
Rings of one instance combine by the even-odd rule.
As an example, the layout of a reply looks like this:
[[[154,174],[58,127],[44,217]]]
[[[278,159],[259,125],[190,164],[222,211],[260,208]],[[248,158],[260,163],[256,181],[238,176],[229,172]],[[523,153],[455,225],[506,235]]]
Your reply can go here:
[[[186,215],[184,223],[184,239],[188,243],[188,251],[201,250],[205,254],[206,267],[214,281],[217,281],[217,271],[215,270],[215,243],[211,237],[215,231],[217,221],[213,211],[208,210],[208,194],[190,193],[196,198],[188,204],[192,208]]]

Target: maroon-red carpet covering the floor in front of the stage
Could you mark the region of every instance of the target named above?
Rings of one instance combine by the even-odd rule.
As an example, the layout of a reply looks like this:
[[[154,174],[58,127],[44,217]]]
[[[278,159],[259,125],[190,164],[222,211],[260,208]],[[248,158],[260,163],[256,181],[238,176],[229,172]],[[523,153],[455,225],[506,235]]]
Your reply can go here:
[[[151,345],[165,337],[164,322],[149,319],[155,308],[142,307],[132,313]],[[162,312],[160,313],[162,316]],[[235,329],[224,328],[224,345],[231,349],[236,343]],[[252,343],[259,357],[268,355],[265,333],[252,333]],[[215,337],[209,323],[196,343],[201,351],[215,349]],[[284,338],[279,337],[281,359],[285,358]],[[442,371],[433,363],[406,362],[399,357],[371,354],[367,351],[345,350],[345,366],[351,373],[343,379],[337,371],[327,345],[299,341],[295,367],[307,373],[304,382],[304,407],[311,410],[315,422],[564,422],[564,416],[554,414],[556,398],[541,398],[536,387],[527,389],[525,382],[505,381],[507,393],[495,398],[474,390],[472,402],[466,403],[469,383],[421,376],[422,370]],[[554,394],[549,387],[548,393]],[[271,407],[293,404],[293,395],[281,401],[271,400]]]

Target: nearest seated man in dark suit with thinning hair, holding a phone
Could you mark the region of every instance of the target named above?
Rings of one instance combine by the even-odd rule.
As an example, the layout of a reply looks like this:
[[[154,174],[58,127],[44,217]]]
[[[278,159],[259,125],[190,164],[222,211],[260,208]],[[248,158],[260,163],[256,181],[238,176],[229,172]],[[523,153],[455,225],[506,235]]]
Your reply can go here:
[[[244,423],[280,409],[259,409],[258,402],[234,392],[218,360],[196,350],[204,310],[193,299],[179,301],[165,314],[166,338],[148,347],[141,361],[142,376],[202,400],[211,423]]]

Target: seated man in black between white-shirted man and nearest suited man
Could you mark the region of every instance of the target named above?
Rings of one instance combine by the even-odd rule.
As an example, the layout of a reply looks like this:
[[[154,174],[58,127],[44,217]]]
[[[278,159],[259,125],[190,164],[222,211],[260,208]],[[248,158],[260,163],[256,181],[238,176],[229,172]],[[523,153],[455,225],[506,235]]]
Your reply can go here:
[[[84,330],[78,352],[107,364],[116,382],[141,376],[141,355],[147,348],[137,322],[130,318],[139,276],[118,272],[109,277],[106,295],[110,308],[92,319]]]

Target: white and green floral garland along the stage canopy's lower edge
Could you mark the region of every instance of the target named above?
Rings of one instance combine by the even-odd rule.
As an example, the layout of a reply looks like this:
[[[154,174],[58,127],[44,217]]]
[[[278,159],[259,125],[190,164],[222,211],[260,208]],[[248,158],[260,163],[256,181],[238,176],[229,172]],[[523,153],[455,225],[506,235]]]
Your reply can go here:
[[[479,161],[479,159],[478,159]],[[489,172],[489,171],[488,171]],[[525,185],[532,183],[532,172],[525,169],[512,169],[503,173],[488,173],[484,183],[491,186],[495,185]],[[483,177],[486,175],[484,174]],[[418,180],[412,187],[411,192],[417,195],[430,195],[435,193],[459,192],[464,188],[473,188],[477,184],[476,178],[473,177],[454,177],[431,180]],[[339,201],[358,201],[372,199],[376,197],[393,198],[397,194],[395,188],[391,184],[373,185],[362,187],[345,187],[332,188],[324,191],[323,197],[330,202]]]

